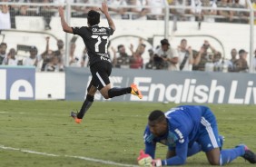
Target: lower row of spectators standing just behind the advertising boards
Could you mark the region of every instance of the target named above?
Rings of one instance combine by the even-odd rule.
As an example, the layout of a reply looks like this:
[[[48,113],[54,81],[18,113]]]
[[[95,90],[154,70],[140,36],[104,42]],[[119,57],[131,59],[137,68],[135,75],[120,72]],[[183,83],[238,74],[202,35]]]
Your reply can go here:
[[[49,47],[49,37],[45,38],[46,45],[44,53],[38,53],[36,46],[29,48],[29,56],[24,59],[16,57],[15,48],[7,49],[7,44],[0,44],[0,64],[2,65],[34,65],[41,72],[64,71],[64,42],[57,40],[57,50]],[[88,66],[86,48],[80,55],[74,54],[75,43],[70,44],[69,66]],[[210,72],[243,72],[249,71],[247,64],[247,52],[244,49],[231,49],[231,59],[222,57],[208,41],[202,42],[199,50],[192,49],[185,38],[177,47],[172,47],[167,39],[162,39],[156,48],[146,49],[143,40],[134,49],[130,45],[130,53],[126,51],[124,44],[117,48],[111,47],[109,54],[115,68],[154,69],[169,71],[210,71]],[[149,61],[143,61],[143,54],[148,52]],[[256,71],[256,50],[253,58],[253,72]]]

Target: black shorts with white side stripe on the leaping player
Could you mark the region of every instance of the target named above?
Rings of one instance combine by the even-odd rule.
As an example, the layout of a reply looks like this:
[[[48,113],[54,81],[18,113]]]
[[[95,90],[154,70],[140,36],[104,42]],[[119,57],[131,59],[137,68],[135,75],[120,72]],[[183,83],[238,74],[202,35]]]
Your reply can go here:
[[[112,72],[112,64],[108,62],[98,62],[90,67],[93,75],[91,85],[94,85],[98,90],[110,83],[109,76]]]

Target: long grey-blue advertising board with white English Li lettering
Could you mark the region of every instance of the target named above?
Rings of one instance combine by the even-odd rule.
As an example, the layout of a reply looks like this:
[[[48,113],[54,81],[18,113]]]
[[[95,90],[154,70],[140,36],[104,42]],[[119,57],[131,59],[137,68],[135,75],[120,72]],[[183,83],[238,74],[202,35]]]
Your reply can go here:
[[[83,101],[91,77],[89,68],[66,68],[65,99]],[[110,101],[256,103],[255,74],[113,68],[110,80],[113,87],[127,87],[131,83],[136,83],[143,93],[142,100],[127,94],[113,97]],[[104,100],[99,92],[94,98]]]

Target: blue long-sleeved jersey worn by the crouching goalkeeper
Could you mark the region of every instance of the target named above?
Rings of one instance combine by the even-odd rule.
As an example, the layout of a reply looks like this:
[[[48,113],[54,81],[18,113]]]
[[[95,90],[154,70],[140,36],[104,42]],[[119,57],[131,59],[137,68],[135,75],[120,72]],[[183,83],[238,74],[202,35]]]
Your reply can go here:
[[[176,156],[168,161],[172,162],[172,165],[182,164],[186,160],[188,148],[192,147],[193,142],[205,130],[202,130],[202,117],[206,117],[209,123],[216,124],[211,110],[200,105],[181,105],[172,108],[165,113],[165,117],[168,123],[168,133],[161,137],[154,136],[150,132],[149,126],[146,126],[144,132],[145,153],[154,158],[156,143],[160,142],[168,146],[169,150],[175,150]],[[163,163],[166,164],[167,161],[165,160]]]

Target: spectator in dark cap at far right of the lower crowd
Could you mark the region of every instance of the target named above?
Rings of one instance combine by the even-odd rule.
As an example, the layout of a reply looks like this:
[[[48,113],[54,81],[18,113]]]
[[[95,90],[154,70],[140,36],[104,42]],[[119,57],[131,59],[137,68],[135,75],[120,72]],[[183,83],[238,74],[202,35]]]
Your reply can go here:
[[[245,50],[241,49],[239,52],[239,59],[234,62],[235,64],[235,72],[243,72],[247,73],[249,70],[249,66],[247,64],[247,54]]]

